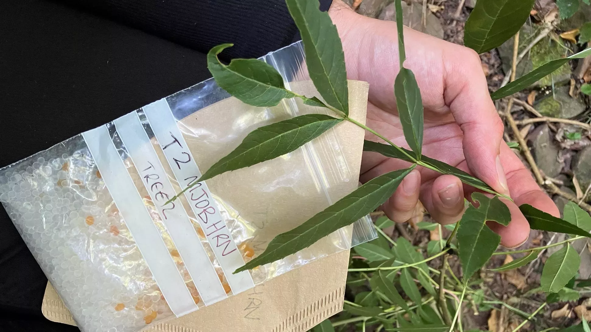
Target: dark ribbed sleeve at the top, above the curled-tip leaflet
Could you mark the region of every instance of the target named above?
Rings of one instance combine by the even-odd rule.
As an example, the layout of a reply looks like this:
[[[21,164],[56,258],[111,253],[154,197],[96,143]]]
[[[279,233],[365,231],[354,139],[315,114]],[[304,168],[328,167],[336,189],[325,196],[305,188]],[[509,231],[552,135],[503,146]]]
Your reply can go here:
[[[297,28],[284,0],[62,0],[94,14],[207,53],[233,43],[225,60],[254,58],[293,43]],[[327,11],[332,0],[320,0]]]

